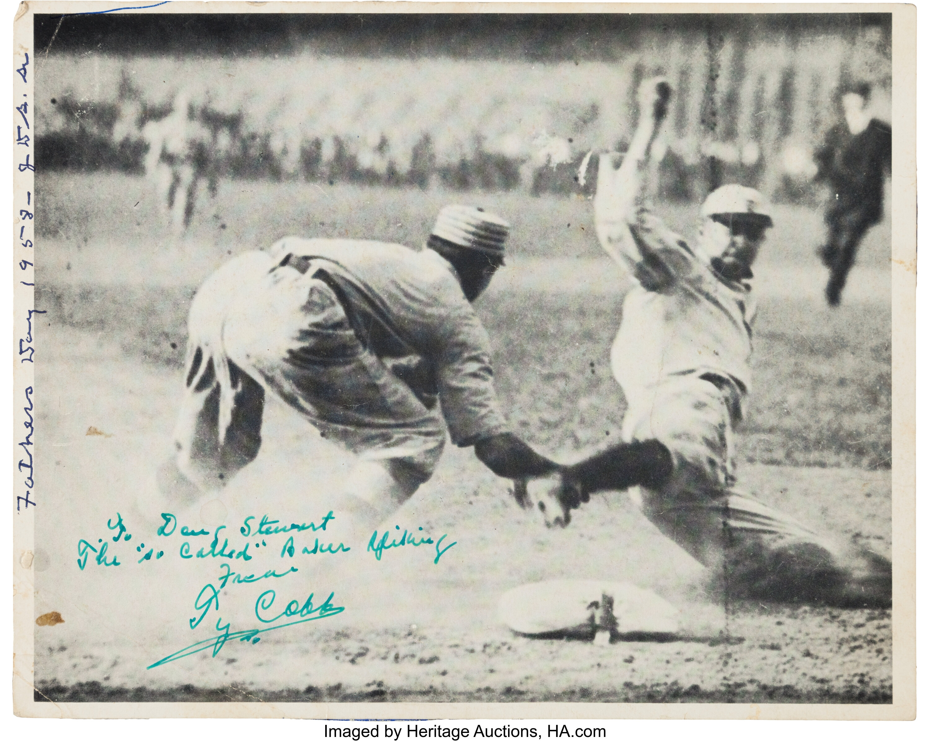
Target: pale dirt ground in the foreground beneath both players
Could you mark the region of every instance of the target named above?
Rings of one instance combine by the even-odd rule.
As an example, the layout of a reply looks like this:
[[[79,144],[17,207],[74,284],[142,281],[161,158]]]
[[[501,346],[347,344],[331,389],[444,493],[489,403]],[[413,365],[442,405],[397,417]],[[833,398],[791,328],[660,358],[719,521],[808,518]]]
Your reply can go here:
[[[455,541],[438,562],[430,549],[397,549],[376,562],[365,552],[368,534],[340,527],[339,519],[325,542],[343,542],[349,554],[304,554],[324,535],[311,530],[246,538],[239,528],[248,516],[257,518],[253,525],[266,513],[281,523],[320,523],[348,458],[270,405],[265,438],[273,444],[231,483],[221,507],[166,502],[153,469],[167,454],[179,373],[126,360],[99,336],[69,330],[57,339],[68,363],[36,367],[44,389],[37,473],[47,483],[47,506],[36,519],[36,615],[57,611],[64,620],[35,631],[35,676],[49,699],[890,701],[887,613],[758,604],[724,611],[703,597],[697,563],[627,497],[599,498],[565,531],[546,531],[513,506],[506,482],[469,450],[449,450],[434,479],[386,523]],[[802,519],[889,548],[889,471],[744,466],[741,477],[749,492]],[[211,535],[225,524],[232,547],[252,544],[252,561],[182,559],[184,538],[156,535],[165,511],[179,528]],[[112,542],[118,531],[107,522],[117,512],[133,536],[109,549],[121,564],[91,558],[80,569],[78,540]],[[293,557],[282,555],[288,536]],[[209,550],[209,539],[187,538],[194,551]],[[152,547],[163,558],[137,562]],[[217,583],[220,562],[243,574],[298,571],[273,583],[229,585],[192,629],[199,591]],[[352,573],[349,581],[334,576],[337,566]],[[535,642],[498,623],[502,591],[565,576],[655,589],[682,608],[682,640]],[[346,610],[260,642],[227,642],[215,656],[205,651],[146,668],[215,638],[219,618],[233,630],[265,627],[255,603],[266,589],[277,591],[281,608],[334,591]]]

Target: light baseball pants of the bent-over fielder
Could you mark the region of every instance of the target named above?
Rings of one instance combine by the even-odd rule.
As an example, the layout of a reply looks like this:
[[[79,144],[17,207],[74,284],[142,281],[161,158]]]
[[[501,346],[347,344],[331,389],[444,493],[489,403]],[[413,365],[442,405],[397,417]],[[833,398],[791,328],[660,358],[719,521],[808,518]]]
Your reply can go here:
[[[365,348],[312,266],[268,270],[258,254],[251,259],[238,274],[230,266],[229,280],[215,274],[193,300],[179,469],[208,490],[253,460],[271,390],[325,439],[379,461],[412,493],[443,451],[437,409]]]

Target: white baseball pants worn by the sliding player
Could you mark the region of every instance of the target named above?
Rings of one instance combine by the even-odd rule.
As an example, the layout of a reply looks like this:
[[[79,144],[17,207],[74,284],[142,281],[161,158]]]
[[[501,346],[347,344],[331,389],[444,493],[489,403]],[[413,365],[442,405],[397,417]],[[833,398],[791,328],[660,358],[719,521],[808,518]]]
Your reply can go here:
[[[789,516],[737,491],[733,425],[740,393],[724,377],[664,379],[630,399],[623,439],[655,439],[671,451],[674,468],[659,489],[639,486],[633,501],[663,535],[698,562],[719,571],[730,549],[751,543],[764,559],[786,543],[823,541]]]

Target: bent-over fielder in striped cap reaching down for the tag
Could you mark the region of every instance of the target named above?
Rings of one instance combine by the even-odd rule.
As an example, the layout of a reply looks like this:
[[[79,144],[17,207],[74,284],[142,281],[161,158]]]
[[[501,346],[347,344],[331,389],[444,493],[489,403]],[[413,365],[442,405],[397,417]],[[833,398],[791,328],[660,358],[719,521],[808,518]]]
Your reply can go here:
[[[449,205],[420,252],[286,237],[230,260],[193,299],[163,490],[216,491],[252,461],[269,390],[357,455],[343,509],[363,527],[430,478],[446,430],[499,476],[554,470],[507,429],[472,309],[508,231],[480,208]]]

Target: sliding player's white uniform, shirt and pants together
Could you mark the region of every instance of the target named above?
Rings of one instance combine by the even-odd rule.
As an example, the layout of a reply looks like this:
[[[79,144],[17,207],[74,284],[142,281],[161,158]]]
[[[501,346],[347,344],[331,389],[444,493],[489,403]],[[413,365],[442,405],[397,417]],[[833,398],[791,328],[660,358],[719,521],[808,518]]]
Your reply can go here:
[[[604,250],[636,280],[611,351],[629,404],[623,439],[656,439],[674,461],[660,490],[639,487],[631,496],[708,566],[719,564],[737,533],[820,544],[800,523],[733,489],[733,428],[751,388],[751,275],[726,280],[650,210],[645,166],[640,182],[621,182],[603,156],[594,202]]]

